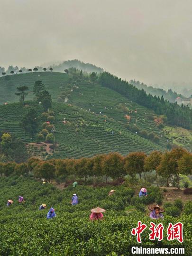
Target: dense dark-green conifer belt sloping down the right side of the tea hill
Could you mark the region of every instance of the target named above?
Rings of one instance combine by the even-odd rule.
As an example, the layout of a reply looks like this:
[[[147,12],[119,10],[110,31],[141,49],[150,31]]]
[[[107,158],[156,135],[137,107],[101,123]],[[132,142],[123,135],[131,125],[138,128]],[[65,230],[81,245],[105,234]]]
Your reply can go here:
[[[126,96],[129,100],[154,110],[158,115],[165,115],[169,125],[176,125],[183,128],[192,128],[192,110],[188,106],[179,106],[164,100],[164,97],[147,95],[146,91],[139,90],[132,84],[121,80],[108,72],[101,74],[99,82],[102,86],[108,87]]]

